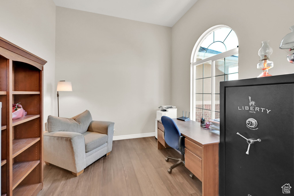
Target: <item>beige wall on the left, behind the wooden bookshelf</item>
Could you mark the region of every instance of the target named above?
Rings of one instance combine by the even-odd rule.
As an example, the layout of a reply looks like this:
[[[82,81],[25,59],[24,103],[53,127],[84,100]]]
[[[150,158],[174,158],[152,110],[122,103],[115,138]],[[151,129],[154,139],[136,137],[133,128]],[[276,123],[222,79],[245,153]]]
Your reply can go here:
[[[54,114],[55,14],[52,0],[5,0],[0,5],[0,37],[48,61],[44,66],[44,122]]]

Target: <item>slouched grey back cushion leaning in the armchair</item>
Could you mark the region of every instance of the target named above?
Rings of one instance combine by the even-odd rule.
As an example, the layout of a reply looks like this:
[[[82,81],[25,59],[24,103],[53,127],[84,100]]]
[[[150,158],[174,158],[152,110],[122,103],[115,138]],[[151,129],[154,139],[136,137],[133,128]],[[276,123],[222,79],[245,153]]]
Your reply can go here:
[[[92,121],[89,110],[72,118],[61,118],[49,115],[47,118],[47,130],[49,133],[55,131],[68,131],[75,133],[85,133]]]

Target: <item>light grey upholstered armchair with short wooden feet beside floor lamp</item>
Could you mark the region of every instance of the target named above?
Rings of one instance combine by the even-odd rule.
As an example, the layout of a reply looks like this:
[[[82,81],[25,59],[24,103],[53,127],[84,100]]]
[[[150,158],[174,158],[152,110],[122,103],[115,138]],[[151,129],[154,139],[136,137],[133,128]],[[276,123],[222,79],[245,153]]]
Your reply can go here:
[[[73,117],[48,116],[44,132],[44,161],[78,176],[112,150],[114,123],[92,120],[88,110]]]

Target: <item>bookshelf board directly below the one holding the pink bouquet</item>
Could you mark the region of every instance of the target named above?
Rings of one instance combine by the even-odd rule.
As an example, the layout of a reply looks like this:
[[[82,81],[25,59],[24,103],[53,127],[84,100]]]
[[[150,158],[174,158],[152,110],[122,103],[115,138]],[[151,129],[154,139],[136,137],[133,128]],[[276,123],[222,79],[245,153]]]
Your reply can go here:
[[[31,145],[39,141],[40,138],[24,138],[12,140],[12,158],[16,157]]]

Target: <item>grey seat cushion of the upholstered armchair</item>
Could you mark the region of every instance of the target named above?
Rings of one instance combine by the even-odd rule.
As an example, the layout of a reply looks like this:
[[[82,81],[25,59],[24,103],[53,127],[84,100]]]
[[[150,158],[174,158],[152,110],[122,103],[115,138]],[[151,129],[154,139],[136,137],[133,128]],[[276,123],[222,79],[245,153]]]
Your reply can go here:
[[[106,134],[86,131],[85,133],[82,133],[82,135],[85,138],[86,153],[102,146],[107,142]]]

